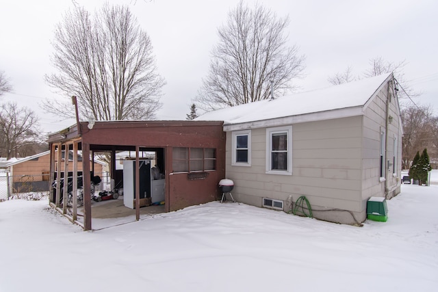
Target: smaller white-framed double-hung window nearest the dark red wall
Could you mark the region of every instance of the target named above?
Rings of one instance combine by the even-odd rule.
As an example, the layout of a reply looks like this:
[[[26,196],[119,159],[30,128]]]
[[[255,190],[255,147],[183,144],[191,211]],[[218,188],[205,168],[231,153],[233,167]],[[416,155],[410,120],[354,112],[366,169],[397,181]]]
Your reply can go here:
[[[231,165],[251,166],[251,130],[232,133]]]

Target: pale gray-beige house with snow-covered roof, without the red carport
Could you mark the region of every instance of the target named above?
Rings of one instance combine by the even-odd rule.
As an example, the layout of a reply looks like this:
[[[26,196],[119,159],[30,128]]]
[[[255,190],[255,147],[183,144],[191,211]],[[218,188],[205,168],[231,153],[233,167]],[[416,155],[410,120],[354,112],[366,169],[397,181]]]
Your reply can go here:
[[[226,177],[238,202],[313,217],[366,218],[372,196],[400,193],[402,123],[393,74],[212,111],[226,132]],[[305,206],[307,208],[307,206]]]

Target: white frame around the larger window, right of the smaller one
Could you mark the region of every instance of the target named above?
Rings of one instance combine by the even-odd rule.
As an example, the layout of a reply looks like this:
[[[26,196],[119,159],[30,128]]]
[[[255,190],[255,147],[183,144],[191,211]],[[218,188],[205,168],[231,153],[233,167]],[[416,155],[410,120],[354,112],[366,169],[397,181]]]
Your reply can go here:
[[[287,170],[271,169],[272,135],[279,133],[287,135]],[[266,129],[266,174],[292,175],[292,126]]]

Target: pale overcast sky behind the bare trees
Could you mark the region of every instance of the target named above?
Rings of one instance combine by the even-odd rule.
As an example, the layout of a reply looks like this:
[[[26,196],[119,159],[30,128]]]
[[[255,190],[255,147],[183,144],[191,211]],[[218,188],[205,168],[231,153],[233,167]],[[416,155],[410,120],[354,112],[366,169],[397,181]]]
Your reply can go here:
[[[166,79],[161,120],[180,119],[190,112],[192,98],[207,75],[217,29],[239,0],[118,0],[131,8],[154,47],[159,73]],[[90,12],[104,1],[76,0]],[[253,0],[246,1],[251,6]],[[374,57],[389,62],[406,60],[404,79],[422,96],[417,105],[432,105],[438,114],[438,1],[259,0],[278,16],[289,15],[287,33],[306,55],[307,77],[300,91],[330,86],[327,77],[351,66],[355,75]],[[73,7],[68,0],[3,1],[0,9],[0,71],[14,92],[0,103],[16,101],[34,109],[42,131],[60,131],[73,120],[44,114],[44,98],[60,98],[44,83],[50,63],[55,24]],[[396,76],[397,78],[397,76]],[[72,109],[73,110],[73,109]]]

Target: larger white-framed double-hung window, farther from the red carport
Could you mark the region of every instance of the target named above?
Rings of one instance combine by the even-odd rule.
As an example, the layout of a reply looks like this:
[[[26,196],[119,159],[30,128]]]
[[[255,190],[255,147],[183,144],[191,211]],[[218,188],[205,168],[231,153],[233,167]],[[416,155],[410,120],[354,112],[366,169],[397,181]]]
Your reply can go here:
[[[266,173],[292,174],[292,126],[266,129]]]

